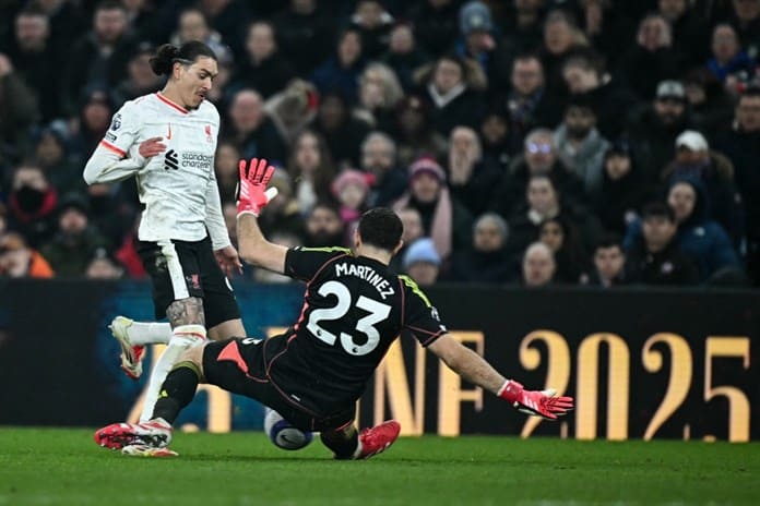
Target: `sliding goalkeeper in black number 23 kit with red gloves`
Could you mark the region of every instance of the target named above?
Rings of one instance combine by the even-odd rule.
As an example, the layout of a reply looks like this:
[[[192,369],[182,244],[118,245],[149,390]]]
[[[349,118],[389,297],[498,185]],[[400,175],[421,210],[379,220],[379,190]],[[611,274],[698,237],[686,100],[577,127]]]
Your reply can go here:
[[[522,411],[555,420],[572,409],[571,397],[526,390],[499,374],[447,332],[412,279],[389,272],[403,228],[392,210],[379,207],[361,216],[353,252],[269,242],[257,216],[276,194],[265,190],[273,171],[266,160],[240,162],[240,253],[246,262],[307,282],[298,321],[270,339],[231,338],[189,349],[164,382],[153,420],[100,429],[95,433],[99,445],[129,455],[176,455],[166,447],[171,423],[199,382],[207,382],[261,401],[298,429],[319,431],[335,458],[371,457],[395,441],[401,426],[390,420],[359,434],[356,400],[402,329],[463,378]]]

